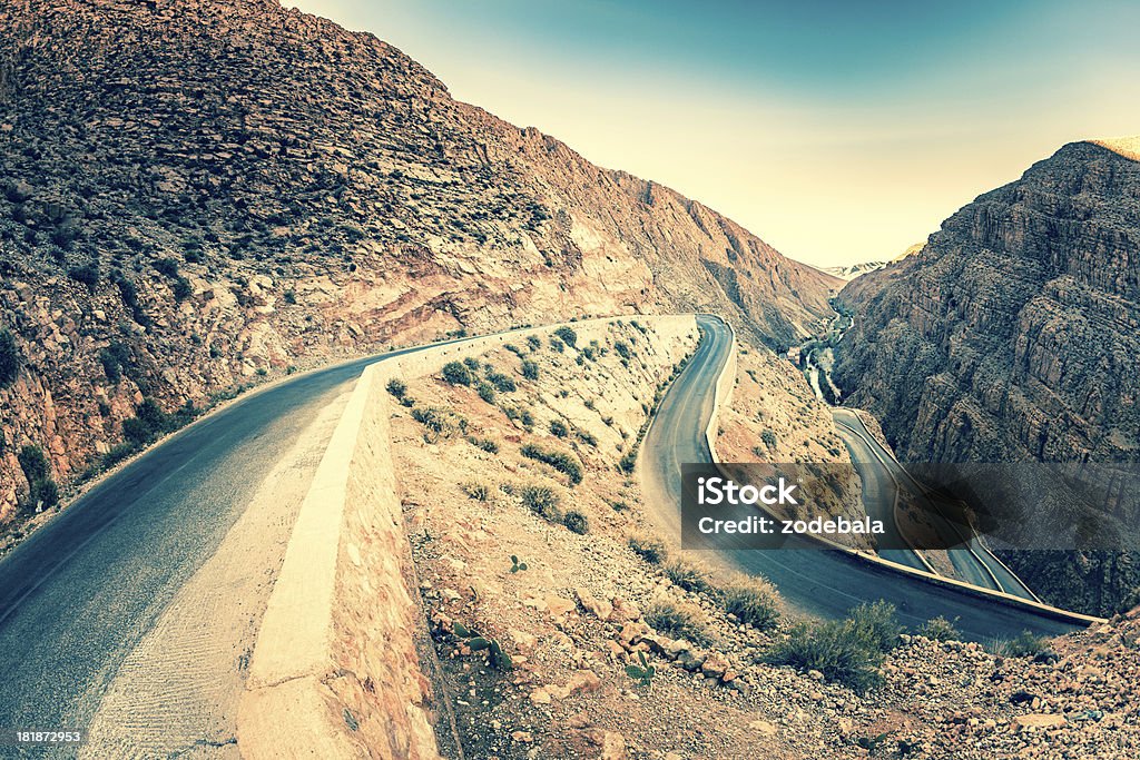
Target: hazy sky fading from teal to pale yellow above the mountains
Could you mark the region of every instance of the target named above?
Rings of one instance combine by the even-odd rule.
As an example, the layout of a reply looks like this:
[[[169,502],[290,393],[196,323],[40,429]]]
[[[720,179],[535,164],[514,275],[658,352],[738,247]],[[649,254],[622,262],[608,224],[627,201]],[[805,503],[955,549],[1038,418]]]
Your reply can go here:
[[[1065,142],[1140,132],[1140,3],[283,0],[820,265],[891,258]]]

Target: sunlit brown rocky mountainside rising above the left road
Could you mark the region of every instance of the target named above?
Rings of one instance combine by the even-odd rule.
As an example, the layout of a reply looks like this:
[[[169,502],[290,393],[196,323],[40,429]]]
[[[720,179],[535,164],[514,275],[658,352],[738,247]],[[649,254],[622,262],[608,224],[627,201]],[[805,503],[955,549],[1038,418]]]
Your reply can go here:
[[[837,286],[275,0],[10,0],[0,32],[0,517],[25,446],[66,479],[259,376],[619,311],[784,346]]]

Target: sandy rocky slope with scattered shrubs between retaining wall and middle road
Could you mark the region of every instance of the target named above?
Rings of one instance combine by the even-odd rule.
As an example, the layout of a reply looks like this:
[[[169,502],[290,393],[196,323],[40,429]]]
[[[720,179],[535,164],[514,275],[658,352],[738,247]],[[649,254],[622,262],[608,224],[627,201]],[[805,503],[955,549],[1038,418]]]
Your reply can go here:
[[[904,634],[866,693],[767,664],[795,635],[793,615],[774,599],[773,624],[746,624],[723,603],[739,579],[678,573],[670,559],[691,558],[654,545],[637,480],[619,467],[641,404],[691,338],[665,348],[613,328],[584,363],[569,348],[516,348],[480,357],[479,371],[490,363],[518,390],[488,402],[437,376],[404,391],[414,403],[392,420],[417,581],[465,757],[1075,759],[1140,747],[1135,618],[1027,643],[1017,656],[1005,643]],[[537,378],[523,377],[523,361]],[[762,387],[783,386],[777,365],[755,357],[749,369]],[[450,427],[413,417],[429,408]],[[556,420],[565,436],[552,432]],[[581,481],[522,456],[528,444],[571,453]],[[549,489],[557,504],[528,507],[528,488]],[[586,522],[567,521],[572,513]],[[665,626],[662,605],[693,627]],[[654,673],[627,670],[643,665]]]

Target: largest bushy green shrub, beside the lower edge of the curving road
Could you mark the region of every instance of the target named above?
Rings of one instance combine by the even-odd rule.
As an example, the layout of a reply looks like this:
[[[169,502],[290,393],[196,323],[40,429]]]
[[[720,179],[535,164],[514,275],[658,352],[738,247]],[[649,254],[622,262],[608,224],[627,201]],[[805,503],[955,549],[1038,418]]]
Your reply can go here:
[[[773,646],[765,661],[799,670],[817,670],[829,681],[864,693],[878,686],[883,655],[898,640],[894,605],[863,604],[844,620],[803,623]]]

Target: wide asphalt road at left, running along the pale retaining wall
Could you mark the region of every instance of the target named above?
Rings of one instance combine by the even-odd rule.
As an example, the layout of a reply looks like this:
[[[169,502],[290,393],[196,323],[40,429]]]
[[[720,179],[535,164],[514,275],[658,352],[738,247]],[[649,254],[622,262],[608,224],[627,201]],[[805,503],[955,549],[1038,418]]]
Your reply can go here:
[[[368,363],[415,350],[235,401],[104,480],[0,562],[0,732],[87,728],[123,657],[319,410]],[[9,750],[0,744],[0,757]]]

